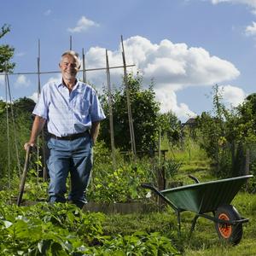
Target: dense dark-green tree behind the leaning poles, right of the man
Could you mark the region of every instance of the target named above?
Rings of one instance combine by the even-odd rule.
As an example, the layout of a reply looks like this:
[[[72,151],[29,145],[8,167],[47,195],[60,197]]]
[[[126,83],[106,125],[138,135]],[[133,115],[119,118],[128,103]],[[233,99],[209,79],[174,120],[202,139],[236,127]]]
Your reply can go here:
[[[137,151],[152,150],[155,147],[155,137],[158,131],[159,102],[156,102],[153,84],[143,90],[143,78],[139,74],[128,75],[131,98],[131,113],[135,132]],[[121,150],[131,150],[130,130],[126,102],[126,88],[121,86],[113,91],[113,130],[115,147]],[[102,106],[107,119],[102,122],[100,138],[110,147],[108,92],[102,95]]]

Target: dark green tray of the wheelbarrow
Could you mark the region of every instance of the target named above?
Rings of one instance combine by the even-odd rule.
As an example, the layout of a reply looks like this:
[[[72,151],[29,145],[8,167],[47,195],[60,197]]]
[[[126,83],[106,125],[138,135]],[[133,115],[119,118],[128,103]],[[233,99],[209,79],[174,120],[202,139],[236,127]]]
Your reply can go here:
[[[253,175],[225,178],[206,183],[195,183],[174,189],[161,190],[167,201],[179,212],[198,214],[214,212],[219,206],[229,205],[247,178]]]

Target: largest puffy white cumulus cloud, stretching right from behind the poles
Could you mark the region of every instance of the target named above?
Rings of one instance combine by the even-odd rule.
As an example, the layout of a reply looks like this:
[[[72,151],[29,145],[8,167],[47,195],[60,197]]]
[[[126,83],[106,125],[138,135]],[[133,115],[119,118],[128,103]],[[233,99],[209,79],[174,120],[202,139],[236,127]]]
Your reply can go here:
[[[136,64],[144,79],[154,78],[156,86],[182,90],[186,86],[218,84],[236,79],[240,74],[230,61],[211,56],[206,49],[189,48],[166,39],[160,44],[152,44],[139,36],[128,38],[124,44],[126,62]],[[122,63],[121,49],[108,52],[112,66]],[[105,66],[105,49],[90,48],[86,60],[88,67]]]

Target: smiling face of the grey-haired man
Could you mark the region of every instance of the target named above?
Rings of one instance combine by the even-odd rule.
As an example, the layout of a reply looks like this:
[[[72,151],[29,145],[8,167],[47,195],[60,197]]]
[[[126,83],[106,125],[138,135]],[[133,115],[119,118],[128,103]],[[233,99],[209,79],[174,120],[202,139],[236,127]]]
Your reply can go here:
[[[63,79],[75,79],[79,72],[79,61],[72,55],[65,55],[62,57],[60,68]]]

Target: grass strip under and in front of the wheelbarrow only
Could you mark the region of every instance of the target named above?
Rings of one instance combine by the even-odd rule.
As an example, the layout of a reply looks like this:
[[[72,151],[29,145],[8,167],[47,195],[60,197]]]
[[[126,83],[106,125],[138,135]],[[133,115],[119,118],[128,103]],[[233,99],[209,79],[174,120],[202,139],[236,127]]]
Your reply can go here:
[[[182,236],[177,236],[177,218],[173,210],[167,207],[163,212],[148,212],[145,214],[110,214],[106,218],[103,230],[106,234],[129,235],[136,231],[160,232],[172,241],[172,245],[183,255],[256,255],[256,195],[241,192],[236,195],[232,205],[245,218],[241,242],[233,247],[218,239],[212,221],[199,218],[193,236],[189,240],[189,230],[194,218],[192,212],[182,212]]]

